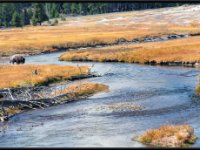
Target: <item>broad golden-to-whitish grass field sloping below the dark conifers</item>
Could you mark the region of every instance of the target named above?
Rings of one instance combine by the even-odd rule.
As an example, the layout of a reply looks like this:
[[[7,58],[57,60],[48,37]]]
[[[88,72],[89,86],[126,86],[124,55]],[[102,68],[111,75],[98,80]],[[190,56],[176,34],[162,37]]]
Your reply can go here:
[[[118,39],[200,33],[199,5],[109,13],[59,20],[57,26],[0,30],[0,56],[37,54],[59,48],[111,44]],[[195,16],[195,17],[193,17]]]

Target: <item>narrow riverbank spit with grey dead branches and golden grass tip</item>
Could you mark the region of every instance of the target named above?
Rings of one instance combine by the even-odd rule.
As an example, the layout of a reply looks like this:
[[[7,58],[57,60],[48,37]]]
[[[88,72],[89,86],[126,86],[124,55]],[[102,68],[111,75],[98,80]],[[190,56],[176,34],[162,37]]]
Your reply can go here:
[[[85,99],[93,94],[99,92],[107,92],[108,86],[104,84],[97,84],[91,82],[84,82],[81,84],[72,84],[62,90],[52,91],[48,97],[31,99],[31,100],[3,100],[1,102],[0,121],[6,121],[14,115],[32,110],[44,109],[58,104],[64,104],[71,101]],[[29,93],[31,95],[31,93]]]

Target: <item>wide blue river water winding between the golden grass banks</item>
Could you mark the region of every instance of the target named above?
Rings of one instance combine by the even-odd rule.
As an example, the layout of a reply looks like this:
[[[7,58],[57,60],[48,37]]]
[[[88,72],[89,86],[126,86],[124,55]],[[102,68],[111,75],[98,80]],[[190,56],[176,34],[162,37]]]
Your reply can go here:
[[[89,65],[102,77],[86,79],[110,91],[85,100],[18,114],[0,124],[0,147],[145,147],[133,137],[164,124],[191,125],[200,137],[200,70],[126,63],[60,62],[61,53],[29,56],[28,64]],[[53,71],[53,70],[52,70]],[[142,110],[111,111],[111,104]],[[197,140],[193,147],[199,147]]]

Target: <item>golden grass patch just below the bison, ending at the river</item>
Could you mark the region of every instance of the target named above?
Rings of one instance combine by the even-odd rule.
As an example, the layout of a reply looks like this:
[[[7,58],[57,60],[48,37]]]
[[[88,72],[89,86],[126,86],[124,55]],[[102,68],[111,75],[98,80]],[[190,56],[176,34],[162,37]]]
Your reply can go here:
[[[0,88],[44,85],[88,74],[86,66],[0,65]]]

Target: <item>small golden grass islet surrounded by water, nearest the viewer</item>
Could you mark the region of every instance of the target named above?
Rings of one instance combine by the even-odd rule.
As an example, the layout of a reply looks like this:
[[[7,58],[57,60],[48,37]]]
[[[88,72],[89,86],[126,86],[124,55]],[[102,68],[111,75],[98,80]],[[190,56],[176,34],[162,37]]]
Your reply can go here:
[[[183,147],[195,143],[196,139],[189,125],[164,125],[139,136],[140,142],[157,147]]]

